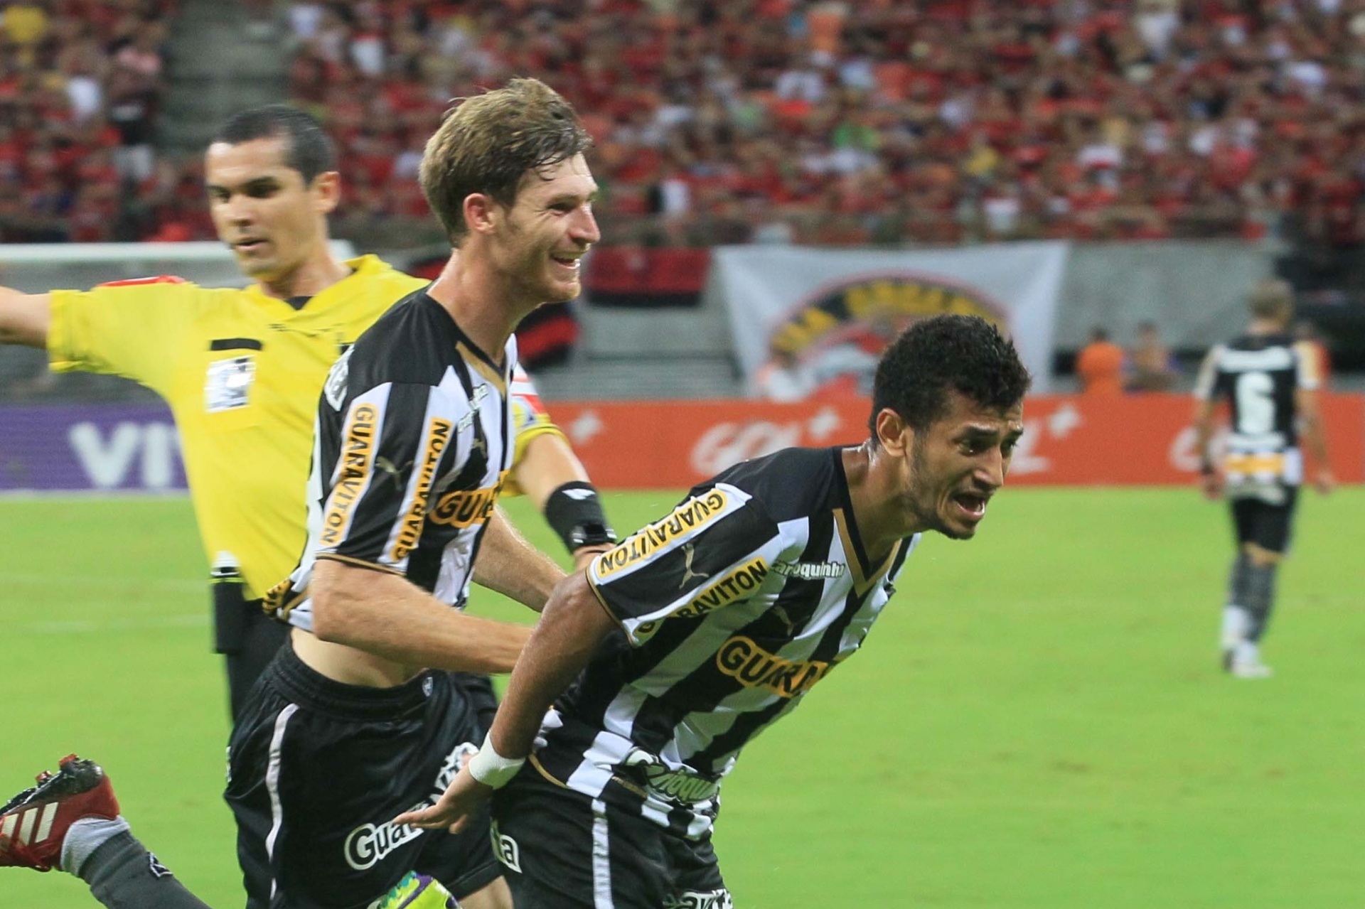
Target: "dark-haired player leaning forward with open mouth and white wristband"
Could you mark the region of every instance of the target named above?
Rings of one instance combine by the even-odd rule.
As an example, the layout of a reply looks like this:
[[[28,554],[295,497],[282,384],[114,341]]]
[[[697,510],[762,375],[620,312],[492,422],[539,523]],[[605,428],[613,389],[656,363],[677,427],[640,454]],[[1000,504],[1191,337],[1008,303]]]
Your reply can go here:
[[[976,532],[1028,382],[983,319],[908,329],[867,442],[738,464],[561,583],[483,748],[397,820],[460,826],[493,796],[517,909],[730,906],[722,778],[863,644],[923,532]]]

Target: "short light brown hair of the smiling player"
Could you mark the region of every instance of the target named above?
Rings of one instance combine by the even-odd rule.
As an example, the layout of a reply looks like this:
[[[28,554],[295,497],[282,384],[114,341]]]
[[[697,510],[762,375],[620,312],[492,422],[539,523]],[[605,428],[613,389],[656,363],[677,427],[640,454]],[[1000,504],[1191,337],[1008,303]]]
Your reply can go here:
[[[573,108],[539,79],[465,98],[427,139],[419,179],[450,243],[470,233],[464,199],[479,192],[512,207],[527,173],[541,173],[592,145]]]

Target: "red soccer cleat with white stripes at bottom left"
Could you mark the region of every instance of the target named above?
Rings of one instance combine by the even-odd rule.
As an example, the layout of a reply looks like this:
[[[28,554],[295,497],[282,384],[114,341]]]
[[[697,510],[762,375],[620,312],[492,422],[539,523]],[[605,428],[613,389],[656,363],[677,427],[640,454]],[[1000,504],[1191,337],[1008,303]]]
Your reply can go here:
[[[57,773],[42,771],[38,785],[0,808],[0,868],[52,871],[61,858],[67,830],[82,818],[113,820],[119,800],[104,768],[75,755]]]

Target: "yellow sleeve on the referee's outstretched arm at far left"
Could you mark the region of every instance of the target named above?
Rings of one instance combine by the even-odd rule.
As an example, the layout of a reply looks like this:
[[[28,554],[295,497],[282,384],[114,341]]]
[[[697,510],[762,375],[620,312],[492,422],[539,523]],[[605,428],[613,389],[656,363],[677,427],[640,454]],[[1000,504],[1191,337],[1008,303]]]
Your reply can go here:
[[[146,283],[53,291],[48,362],[55,373],[123,375],[167,396],[199,288]]]

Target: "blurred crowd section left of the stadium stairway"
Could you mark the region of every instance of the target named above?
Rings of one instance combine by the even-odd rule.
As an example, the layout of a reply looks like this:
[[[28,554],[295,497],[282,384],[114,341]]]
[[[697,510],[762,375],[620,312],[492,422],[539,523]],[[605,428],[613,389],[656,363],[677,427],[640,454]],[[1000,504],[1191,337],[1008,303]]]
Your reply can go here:
[[[202,190],[154,152],[176,5],[0,4],[0,242],[143,239],[177,191],[202,207]]]

